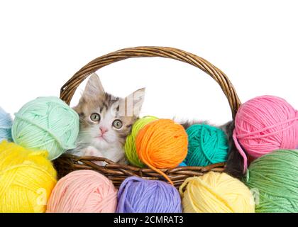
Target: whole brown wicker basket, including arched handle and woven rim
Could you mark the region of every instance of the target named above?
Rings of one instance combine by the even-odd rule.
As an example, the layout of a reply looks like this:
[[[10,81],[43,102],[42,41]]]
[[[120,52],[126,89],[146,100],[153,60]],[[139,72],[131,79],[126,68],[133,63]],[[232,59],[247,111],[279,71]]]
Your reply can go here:
[[[138,47],[138,48],[126,48],[123,50],[118,50],[116,52],[111,52],[108,55],[98,57],[92,62],[82,67],[79,72],[77,72],[61,89],[60,98],[64,100],[67,104],[70,104],[72,96],[75,94],[79,84],[84,81],[92,72],[96,72],[101,67],[110,65],[113,62],[118,62],[130,57],[167,57],[174,60],[180,60],[182,62],[187,62],[190,65],[198,67],[200,70],[209,74],[215,81],[219,84],[223,93],[228,99],[228,103],[231,107],[231,113],[233,118],[236,116],[236,112],[241,102],[238,99],[236,91],[226,77],[226,74],[221,72],[211,63],[204,60],[202,57],[198,57],[189,52],[183,50],[178,50],[175,48],[165,48],[165,47]],[[108,164],[104,167],[94,164],[92,161],[105,161]],[[124,179],[131,176],[139,176],[145,179],[163,179],[162,175],[158,174],[154,170],[133,167],[130,165],[119,165],[117,163],[111,162],[102,157],[77,157],[75,155],[62,155],[60,158],[54,162],[58,177],[63,177],[67,173],[74,170],[96,170],[101,174],[105,175],[114,183],[116,187],[119,187]],[[175,187],[180,187],[184,179],[192,176],[204,175],[204,173],[209,171],[223,172],[225,163],[218,163],[214,165],[209,165],[206,167],[176,167],[173,169],[162,170],[165,174],[170,177]]]

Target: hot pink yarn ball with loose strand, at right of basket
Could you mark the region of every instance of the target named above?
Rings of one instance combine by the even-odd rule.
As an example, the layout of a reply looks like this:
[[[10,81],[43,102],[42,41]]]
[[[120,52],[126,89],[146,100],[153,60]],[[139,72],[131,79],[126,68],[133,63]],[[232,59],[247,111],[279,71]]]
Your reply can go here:
[[[298,111],[276,96],[250,99],[238,109],[233,139],[246,170],[245,152],[255,159],[272,150],[297,147]]]

